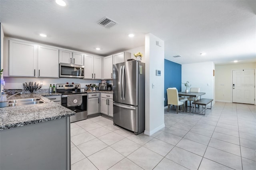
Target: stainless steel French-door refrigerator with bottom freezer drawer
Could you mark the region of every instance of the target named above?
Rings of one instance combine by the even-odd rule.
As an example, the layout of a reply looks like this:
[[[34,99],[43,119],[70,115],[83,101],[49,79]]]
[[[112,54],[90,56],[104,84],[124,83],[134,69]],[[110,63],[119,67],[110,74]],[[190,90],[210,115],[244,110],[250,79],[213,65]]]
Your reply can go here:
[[[113,65],[114,125],[140,134],[145,130],[145,63]]]

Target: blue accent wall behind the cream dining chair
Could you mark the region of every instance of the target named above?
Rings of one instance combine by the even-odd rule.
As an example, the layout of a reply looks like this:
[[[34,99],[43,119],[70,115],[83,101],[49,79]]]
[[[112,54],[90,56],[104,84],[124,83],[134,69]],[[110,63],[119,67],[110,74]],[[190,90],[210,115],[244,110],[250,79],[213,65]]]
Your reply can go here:
[[[167,92],[169,87],[176,87],[181,91],[181,65],[164,59],[164,106],[167,106]]]

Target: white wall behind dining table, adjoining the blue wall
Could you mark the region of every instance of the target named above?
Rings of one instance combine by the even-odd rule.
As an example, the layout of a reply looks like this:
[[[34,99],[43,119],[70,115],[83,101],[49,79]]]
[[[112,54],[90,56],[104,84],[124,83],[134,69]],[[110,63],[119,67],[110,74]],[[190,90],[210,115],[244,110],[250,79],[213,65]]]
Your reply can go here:
[[[215,102],[215,76],[213,76],[214,63],[192,63],[183,64],[181,66],[181,81],[186,83],[189,81],[191,87],[200,87],[200,92],[205,92],[202,98],[214,99]],[[182,84],[182,91],[185,91],[186,87]]]

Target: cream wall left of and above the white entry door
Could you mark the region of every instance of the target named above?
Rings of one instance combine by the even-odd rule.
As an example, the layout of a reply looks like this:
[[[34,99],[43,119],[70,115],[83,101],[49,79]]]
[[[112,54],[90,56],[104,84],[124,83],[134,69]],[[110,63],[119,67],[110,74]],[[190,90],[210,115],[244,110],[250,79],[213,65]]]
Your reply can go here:
[[[256,69],[256,63],[233,63],[215,66],[216,101],[232,103],[232,70],[238,69]]]

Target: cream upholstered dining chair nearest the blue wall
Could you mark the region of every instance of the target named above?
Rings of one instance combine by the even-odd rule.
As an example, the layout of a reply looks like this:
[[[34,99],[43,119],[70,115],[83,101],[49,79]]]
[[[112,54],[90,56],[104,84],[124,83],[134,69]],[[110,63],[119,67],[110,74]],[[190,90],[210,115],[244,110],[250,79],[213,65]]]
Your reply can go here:
[[[184,111],[184,101],[179,100],[178,90],[176,88],[168,88],[166,90],[167,90],[168,111],[170,109],[170,105],[176,106],[177,114],[178,114],[178,110],[179,110],[178,107],[180,105],[183,105],[182,111]]]

